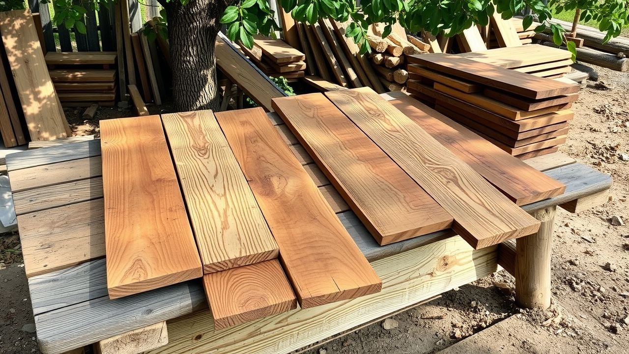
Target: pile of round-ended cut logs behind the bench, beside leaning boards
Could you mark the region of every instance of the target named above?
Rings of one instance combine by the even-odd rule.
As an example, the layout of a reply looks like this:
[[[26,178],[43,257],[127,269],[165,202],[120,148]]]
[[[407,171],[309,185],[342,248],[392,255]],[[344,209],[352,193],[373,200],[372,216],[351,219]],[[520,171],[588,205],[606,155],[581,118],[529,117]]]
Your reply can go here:
[[[370,27],[367,40],[372,49],[371,60],[380,81],[389,91],[400,91],[406,80],[406,56],[427,53],[430,45],[419,38],[406,35],[406,30],[396,23],[391,34],[382,38],[384,24],[376,23]]]

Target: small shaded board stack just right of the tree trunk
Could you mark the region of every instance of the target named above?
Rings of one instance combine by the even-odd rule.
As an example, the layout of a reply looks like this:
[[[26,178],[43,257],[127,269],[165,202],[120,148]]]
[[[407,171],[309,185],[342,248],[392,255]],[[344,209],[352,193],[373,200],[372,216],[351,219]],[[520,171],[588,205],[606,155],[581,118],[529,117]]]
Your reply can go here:
[[[306,55],[281,39],[256,35],[252,49],[247,49],[242,43],[240,49],[270,77],[282,76],[289,82],[304,77]]]

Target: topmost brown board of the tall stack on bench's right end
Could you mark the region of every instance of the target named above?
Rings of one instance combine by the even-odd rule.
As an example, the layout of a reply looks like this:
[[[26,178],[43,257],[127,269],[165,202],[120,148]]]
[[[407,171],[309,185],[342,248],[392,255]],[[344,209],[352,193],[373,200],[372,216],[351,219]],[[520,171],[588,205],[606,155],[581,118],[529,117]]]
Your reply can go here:
[[[543,77],[533,77],[502,67],[447,54],[409,55],[407,60],[436,71],[461,77],[486,86],[503,89],[527,98],[540,99],[579,91],[578,86]]]

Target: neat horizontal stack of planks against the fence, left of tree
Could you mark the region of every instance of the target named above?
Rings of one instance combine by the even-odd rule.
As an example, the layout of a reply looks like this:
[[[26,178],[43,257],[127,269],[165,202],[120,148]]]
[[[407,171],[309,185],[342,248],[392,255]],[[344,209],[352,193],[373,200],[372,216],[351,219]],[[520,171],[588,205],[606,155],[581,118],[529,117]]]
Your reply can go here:
[[[62,105],[114,105],[116,52],[48,52],[45,60]]]

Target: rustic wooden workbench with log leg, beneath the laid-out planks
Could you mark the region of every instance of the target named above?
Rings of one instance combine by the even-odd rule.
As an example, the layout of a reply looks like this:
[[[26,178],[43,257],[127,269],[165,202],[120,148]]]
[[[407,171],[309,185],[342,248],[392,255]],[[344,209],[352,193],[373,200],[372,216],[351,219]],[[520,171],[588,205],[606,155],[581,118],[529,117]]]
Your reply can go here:
[[[169,343],[151,353],[288,353],[369,323],[496,271],[516,276],[516,299],[550,304],[550,246],[557,206],[582,210],[606,200],[611,177],[560,154],[528,161],[567,186],[564,195],[523,208],[542,221],[537,234],[474,250],[441,231],[379,246],[274,113],[269,118],[337,212],[383,282],[382,292],[297,309],[214,331],[198,280],[122,299],[107,294],[100,140],[7,157],[37,338],[63,353],[167,321]]]

